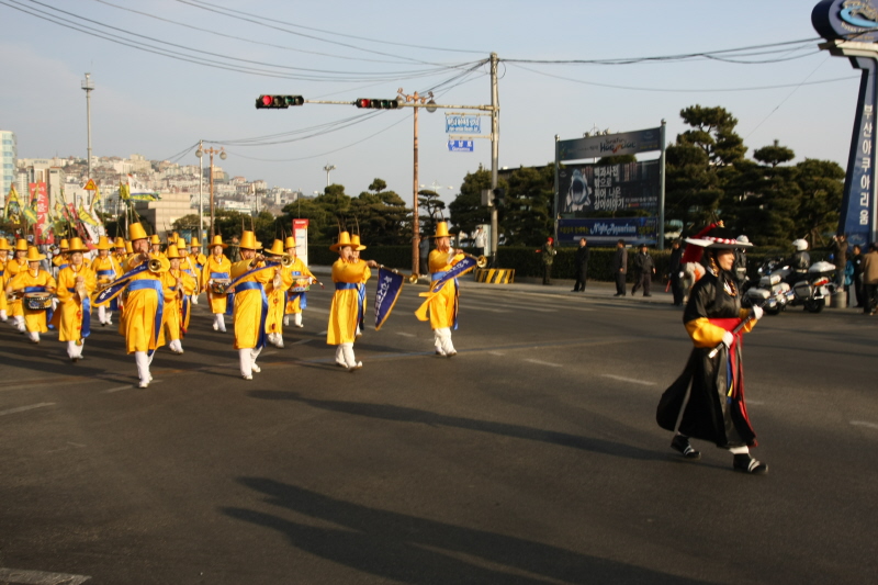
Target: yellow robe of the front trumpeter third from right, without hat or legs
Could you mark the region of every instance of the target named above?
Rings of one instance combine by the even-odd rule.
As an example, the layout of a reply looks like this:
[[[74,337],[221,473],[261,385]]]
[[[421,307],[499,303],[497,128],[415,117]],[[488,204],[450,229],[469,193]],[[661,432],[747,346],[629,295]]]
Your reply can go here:
[[[250,270],[261,268],[264,262],[250,266],[250,260],[241,260],[232,265],[232,278],[246,274]],[[269,268],[254,272],[235,284],[235,349],[260,349],[264,346],[264,322],[268,316],[267,293],[273,288],[277,269]]]

